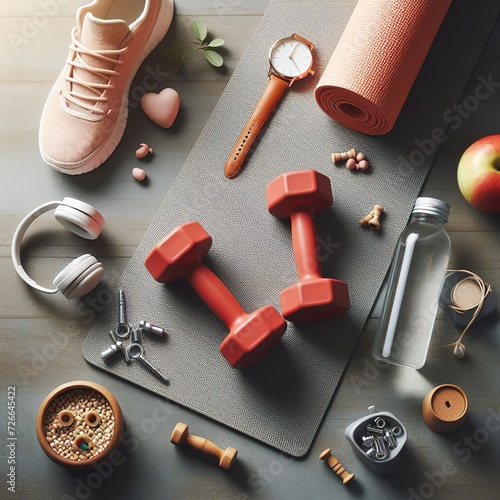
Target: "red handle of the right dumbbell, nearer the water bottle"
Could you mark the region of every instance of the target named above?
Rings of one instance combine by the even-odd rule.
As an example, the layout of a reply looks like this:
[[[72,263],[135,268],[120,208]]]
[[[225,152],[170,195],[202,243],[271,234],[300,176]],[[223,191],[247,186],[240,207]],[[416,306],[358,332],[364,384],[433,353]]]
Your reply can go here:
[[[306,208],[292,213],[292,241],[295,263],[301,281],[321,278],[321,267],[316,252],[317,232],[314,211]]]

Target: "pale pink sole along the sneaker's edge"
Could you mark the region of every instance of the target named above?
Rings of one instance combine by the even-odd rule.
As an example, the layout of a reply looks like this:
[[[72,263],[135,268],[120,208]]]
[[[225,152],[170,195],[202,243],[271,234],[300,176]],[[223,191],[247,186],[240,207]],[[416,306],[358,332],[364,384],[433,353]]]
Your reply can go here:
[[[148,38],[148,41],[146,42],[146,45],[144,46],[143,51],[139,55],[137,62],[135,63],[134,67],[132,68],[132,71],[130,72],[130,78],[129,81],[127,82],[127,86],[125,87],[125,92],[123,95],[120,112],[118,113],[116,124],[113,128],[113,131],[111,132],[111,135],[109,136],[109,139],[91,156],[89,156],[86,160],[84,160],[74,168],[68,168],[68,167],[63,167],[61,165],[57,165],[53,158],[49,158],[43,153],[40,144],[40,154],[42,155],[42,158],[45,161],[45,163],[47,163],[47,165],[50,165],[53,169],[57,170],[58,172],[63,172],[69,175],[80,175],[95,170],[111,156],[113,151],[120,143],[123,137],[123,133],[125,132],[125,127],[127,126],[130,86],[132,85],[132,82],[134,81],[135,75],[137,74],[137,71],[139,70],[141,64],[167,34],[168,29],[172,24],[173,17],[174,17],[173,0],[161,0],[160,11],[158,13],[157,22],[153,28],[153,31],[151,32],[151,35]]]

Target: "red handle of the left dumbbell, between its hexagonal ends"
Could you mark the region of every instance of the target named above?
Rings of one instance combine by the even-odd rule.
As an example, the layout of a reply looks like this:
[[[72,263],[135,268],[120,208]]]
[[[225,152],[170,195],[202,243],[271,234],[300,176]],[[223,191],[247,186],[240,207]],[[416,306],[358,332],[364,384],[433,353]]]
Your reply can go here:
[[[226,285],[203,262],[189,269],[184,277],[229,330],[247,315]]]

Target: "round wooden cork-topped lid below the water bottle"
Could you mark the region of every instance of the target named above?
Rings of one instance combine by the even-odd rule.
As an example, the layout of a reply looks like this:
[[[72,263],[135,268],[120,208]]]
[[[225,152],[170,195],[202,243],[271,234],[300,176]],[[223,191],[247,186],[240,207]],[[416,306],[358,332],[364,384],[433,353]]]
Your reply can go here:
[[[436,432],[452,432],[462,426],[467,417],[469,401],[465,392],[453,384],[435,387],[425,396],[422,416]]]

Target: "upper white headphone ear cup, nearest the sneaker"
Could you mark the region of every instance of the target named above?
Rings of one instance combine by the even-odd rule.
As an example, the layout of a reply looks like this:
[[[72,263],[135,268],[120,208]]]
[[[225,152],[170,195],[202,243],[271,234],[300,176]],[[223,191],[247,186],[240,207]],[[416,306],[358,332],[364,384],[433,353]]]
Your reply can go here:
[[[92,205],[74,198],[64,198],[54,217],[66,229],[88,240],[95,240],[104,228],[102,215]]]

